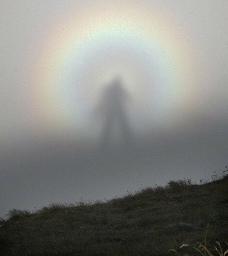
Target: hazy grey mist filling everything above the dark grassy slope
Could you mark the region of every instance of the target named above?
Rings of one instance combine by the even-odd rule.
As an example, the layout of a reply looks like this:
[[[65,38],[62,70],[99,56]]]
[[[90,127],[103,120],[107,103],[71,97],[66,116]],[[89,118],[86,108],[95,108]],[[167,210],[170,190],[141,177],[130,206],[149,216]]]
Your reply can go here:
[[[1,1],[0,216],[222,172],[227,12],[227,1]],[[112,30],[82,41],[71,60],[59,58],[68,26],[77,28],[77,41],[106,14],[121,30],[116,19],[129,13],[140,26],[150,28],[141,17],[156,14],[172,27],[167,52],[185,56],[187,49],[189,59],[178,64],[190,69],[174,76],[181,70],[174,59],[158,63],[163,53],[148,55],[147,41]],[[164,31],[158,27],[158,35]],[[185,83],[176,88],[178,79]]]

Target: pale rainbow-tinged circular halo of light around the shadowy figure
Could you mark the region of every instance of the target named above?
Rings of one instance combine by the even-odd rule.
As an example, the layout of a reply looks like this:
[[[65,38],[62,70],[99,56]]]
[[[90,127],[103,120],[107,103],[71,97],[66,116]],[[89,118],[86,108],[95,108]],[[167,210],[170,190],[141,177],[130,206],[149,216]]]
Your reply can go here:
[[[168,127],[192,109],[196,77],[184,31],[149,5],[115,2],[80,3],[53,26],[35,69],[38,112],[49,124],[85,130],[116,75],[130,95],[134,122],[140,115],[153,127]]]

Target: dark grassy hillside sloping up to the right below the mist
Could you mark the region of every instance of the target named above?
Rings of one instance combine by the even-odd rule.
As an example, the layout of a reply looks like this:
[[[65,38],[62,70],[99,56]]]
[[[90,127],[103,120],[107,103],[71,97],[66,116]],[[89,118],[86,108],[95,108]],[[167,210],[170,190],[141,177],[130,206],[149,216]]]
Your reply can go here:
[[[108,202],[52,204],[35,213],[9,211],[0,221],[0,255],[200,255],[182,244],[227,249],[228,176],[211,182],[170,181]],[[187,224],[194,226],[188,226]],[[174,255],[169,252],[168,255]],[[204,255],[204,253],[202,254]]]

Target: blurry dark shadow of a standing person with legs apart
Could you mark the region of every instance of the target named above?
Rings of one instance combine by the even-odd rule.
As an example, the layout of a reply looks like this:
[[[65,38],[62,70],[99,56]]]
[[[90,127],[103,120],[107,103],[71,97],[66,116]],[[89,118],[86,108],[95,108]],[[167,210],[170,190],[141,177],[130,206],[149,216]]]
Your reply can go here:
[[[111,147],[118,143],[121,145],[132,143],[132,132],[126,111],[129,99],[130,96],[124,89],[120,77],[115,77],[103,90],[96,108],[103,123],[99,140],[102,148]],[[115,129],[118,131],[117,137],[115,137]]]

